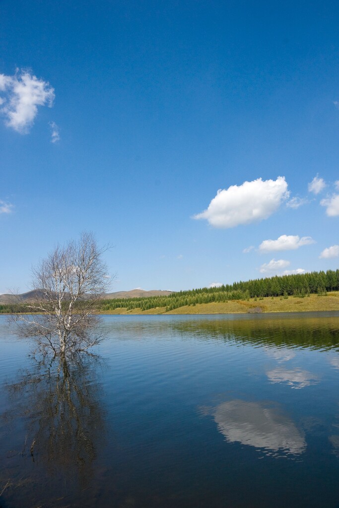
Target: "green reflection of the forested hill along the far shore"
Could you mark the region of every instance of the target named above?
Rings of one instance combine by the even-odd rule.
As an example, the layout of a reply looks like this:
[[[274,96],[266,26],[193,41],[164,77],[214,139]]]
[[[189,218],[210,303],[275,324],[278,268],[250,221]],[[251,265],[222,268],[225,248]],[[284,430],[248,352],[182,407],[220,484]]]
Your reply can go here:
[[[108,325],[109,318],[105,322]],[[180,334],[183,338],[194,336],[207,341],[218,339],[279,346],[276,352],[280,355],[287,353],[289,347],[336,348],[339,351],[339,312],[334,311],[208,316],[121,315],[114,321],[114,328],[120,339]]]

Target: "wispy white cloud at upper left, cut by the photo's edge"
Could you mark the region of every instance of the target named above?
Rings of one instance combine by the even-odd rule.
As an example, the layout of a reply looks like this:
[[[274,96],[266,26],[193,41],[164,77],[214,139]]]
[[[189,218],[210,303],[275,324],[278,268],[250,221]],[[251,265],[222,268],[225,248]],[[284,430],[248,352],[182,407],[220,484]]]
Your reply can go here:
[[[54,88],[28,71],[14,76],[0,74],[0,91],[5,123],[15,131],[26,134],[38,113],[38,106],[52,106]]]

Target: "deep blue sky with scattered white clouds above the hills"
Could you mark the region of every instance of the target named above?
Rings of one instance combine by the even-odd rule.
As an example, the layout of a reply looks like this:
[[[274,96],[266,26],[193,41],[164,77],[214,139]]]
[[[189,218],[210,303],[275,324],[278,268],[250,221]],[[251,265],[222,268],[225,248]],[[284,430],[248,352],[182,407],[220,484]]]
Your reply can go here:
[[[336,269],[338,14],[3,0],[0,293],[83,230],[112,291]]]

